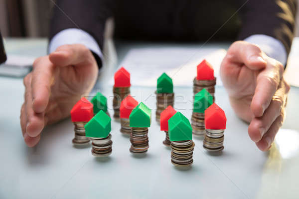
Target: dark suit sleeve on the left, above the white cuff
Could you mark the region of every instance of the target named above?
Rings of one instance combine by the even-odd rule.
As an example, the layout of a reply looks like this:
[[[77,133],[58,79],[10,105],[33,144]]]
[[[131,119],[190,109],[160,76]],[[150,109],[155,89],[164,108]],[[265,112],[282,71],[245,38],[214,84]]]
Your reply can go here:
[[[79,28],[93,36],[103,50],[105,22],[112,16],[112,0],[57,0],[52,10],[49,40],[67,28]],[[101,59],[93,53],[98,65]]]

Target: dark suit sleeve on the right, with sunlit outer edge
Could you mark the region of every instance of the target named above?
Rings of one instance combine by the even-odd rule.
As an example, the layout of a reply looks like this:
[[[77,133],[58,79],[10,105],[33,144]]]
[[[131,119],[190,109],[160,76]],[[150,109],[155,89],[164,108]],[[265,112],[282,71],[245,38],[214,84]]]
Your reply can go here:
[[[239,0],[239,7],[246,0]],[[242,28],[238,39],[265,34],[280,40],[290,53],[294,37],[297,0],[249,0],[240,9]]]

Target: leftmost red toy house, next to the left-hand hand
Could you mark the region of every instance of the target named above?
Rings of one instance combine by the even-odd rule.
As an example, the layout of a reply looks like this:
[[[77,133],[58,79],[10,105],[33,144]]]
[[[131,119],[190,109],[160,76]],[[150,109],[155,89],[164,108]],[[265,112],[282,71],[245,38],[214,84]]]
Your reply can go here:
[[[93,104],[82,97],[71,110],[72,122],[88,122],[93,117]]]

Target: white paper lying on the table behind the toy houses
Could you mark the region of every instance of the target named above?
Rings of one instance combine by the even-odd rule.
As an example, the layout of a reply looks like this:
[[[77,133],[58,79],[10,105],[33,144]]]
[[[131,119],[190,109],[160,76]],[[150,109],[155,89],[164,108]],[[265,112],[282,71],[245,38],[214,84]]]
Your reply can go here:
[[[219,69],[226,50],[219,48],[151,47],[131,49],[119,67],[131,73],[131,84],[155,86],[157,78],[165,72],[174,86],[192,86],[196,66],[206,59],[214,68],[217,85],[222,85]],[[111,84],[114,83],[112,79]]]

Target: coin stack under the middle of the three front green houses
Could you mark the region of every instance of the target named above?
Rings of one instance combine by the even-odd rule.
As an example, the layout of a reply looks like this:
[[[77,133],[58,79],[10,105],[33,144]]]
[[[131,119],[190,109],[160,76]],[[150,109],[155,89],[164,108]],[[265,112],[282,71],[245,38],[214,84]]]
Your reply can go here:
[[[130,136],[131,141],[131,153],[146,153],[149,149],[149,138],[148,138],[148,128],[136,128],[132,127],[132,132]]]

